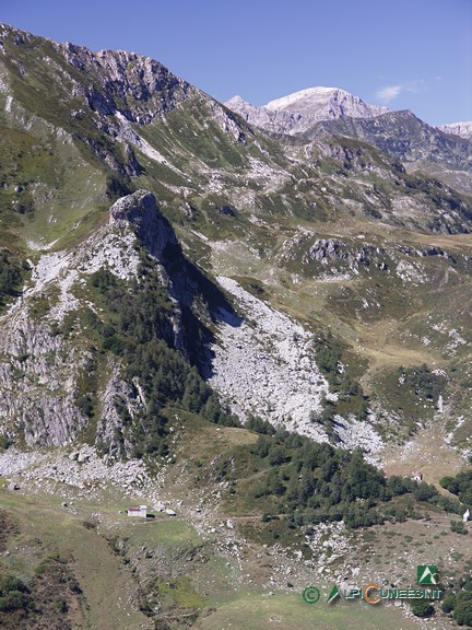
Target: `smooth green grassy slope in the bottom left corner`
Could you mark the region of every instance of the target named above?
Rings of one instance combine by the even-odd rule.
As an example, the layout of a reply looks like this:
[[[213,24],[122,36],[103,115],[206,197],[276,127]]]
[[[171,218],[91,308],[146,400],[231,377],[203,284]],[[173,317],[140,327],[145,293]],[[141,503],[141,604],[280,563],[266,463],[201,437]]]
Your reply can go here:
[[[110,553],[106,540],[94,529],[84,527],[86,512],[73,515],[51,499],[40,495],[25,498],[0,491],[0,505],[17,520],[21,528],[21,534],[9,545],[10,549],[15,548],[15,552],[2,559],[3,571],[15,572],[27,580],[39,561],[50,553],[71,558],[86,600],[76,627],[103,630],[143,628],[145,617],[137,610],[135,602],[129,600],[129,595],[135,592],[131,575]]]

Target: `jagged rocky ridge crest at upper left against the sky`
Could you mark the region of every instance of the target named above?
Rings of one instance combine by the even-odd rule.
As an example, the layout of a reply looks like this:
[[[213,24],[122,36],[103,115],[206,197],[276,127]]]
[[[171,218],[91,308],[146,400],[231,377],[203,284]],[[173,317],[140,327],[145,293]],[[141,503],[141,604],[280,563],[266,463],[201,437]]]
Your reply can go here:
[[[206,107],[231,142],[246,144],[247,130],[232,112],[150,57],[125,50],[94,52],[85,46],[60,44],[4,23],[0,23],[0,98],[5,98],[5,110],[14,124],[21,117],[23,125],[35,127],[39,118],[39,124],[52,125],[56,132],[60,127],[121,175],[141,173],[134,152],[139,150],[186,177],[142,137],[140,128],[164,120],[188,103]],[[14,55],[10,54],[10,46]],[[32,49],[42,55],[37,68],[33,68],[30,58]],[[38,82],[34,90],[40,92],[40,114],[32,118],[15,89],[17,82],[30,85],[33,75]],[[67,104],[66,116],[55,106],[58,101]],[[96,131],[108,141],[97,138]],[[109,141],[122,149],[115,151]]]

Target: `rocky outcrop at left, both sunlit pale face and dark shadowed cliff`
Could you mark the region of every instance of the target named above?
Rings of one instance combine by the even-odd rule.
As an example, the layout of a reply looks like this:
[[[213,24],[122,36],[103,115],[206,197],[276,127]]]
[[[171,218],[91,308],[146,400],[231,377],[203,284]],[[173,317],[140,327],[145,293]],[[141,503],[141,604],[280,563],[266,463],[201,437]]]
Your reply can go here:
[[[203,338],[210,335],[202,295],[212,294],[220,304],[226,304],[225,299],[187,260],[154,195],[138,190],[118,199],[109,210],[108,224],[75,250],[39,258],[22,300],[0,319],[0,434],[22,435],[30,446],[69,444],[90,423],[86,407],[81,405],[88,396],[99,450],[115,457],[131,454],[123,410],[134,418],[146,401],[140,384],[122,376],[125,365],[117,360],[102,369],[102,389],[91,390],[87,375],[94,370],[97,348],[86,317],[99,317],[101,307],[90,300],[86,285],[99,269],[126,282],[140,281],[138,243],[154,259],[172,303],[166,311],[168,342],[185,355],[193,352],[196,361],[203,355],[202,342],[191,337],[198,329]],[[38,302],[44,310],[39,316]]]

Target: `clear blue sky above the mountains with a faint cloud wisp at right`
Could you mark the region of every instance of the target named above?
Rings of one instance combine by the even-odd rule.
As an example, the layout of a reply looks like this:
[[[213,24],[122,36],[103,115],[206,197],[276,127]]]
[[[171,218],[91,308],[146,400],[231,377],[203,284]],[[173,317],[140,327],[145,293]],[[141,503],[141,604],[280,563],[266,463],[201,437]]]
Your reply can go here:
[[[324,85],[472,120],[472,0],[0,0],[0,21],[142,52],[220,101]]]

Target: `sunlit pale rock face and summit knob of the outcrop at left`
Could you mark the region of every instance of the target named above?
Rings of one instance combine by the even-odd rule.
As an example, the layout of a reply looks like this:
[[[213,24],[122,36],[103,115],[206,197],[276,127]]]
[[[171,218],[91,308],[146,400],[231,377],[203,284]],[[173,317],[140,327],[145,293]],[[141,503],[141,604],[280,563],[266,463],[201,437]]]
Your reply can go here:
[[[45,254],[33,267],[22,299],[0,319],[3,433],[21,431],[30,446],[63,445],[86,427],[88,420],[76,405],[78,380],[93,360],[93,350],[85,338],[86,328],[76,323],[83,308],[97,311],[92,302],[76,295],[86,287],[87,277],[103,268],[125,281],[138,278],[137,236],[155,255],[157,265],[165,245],[175,243],[155,198],[145,190],[118,200],[110,208],[108,225],[99,228],[74,252]],[[172,290],[162,265],[160,270],[163,283]],[[38,317],[38,304],[45,301],[47,311]],[[175,345],[179,347],[180,311],[175,299],[174,306]],[[131,412],[139,404],[132,401],[134,387],[123,383],[119,373],[118,364],[110,366],[97,429],[97,442],[109,439],[111,451],[114,431],[120,422],[116,399],[129,405]]]

